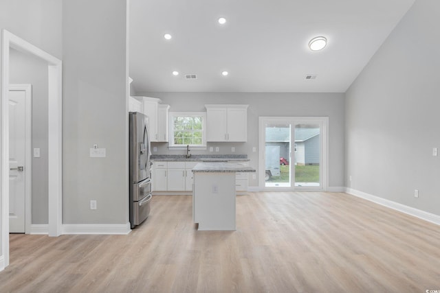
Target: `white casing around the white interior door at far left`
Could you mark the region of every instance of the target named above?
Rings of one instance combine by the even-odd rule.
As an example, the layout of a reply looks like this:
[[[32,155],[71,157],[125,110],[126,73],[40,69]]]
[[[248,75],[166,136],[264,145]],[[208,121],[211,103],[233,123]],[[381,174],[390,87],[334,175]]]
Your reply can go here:
[[[9,91],[24,91],[25,98],[25,234],[32,224],[32,85],[10,84]]]

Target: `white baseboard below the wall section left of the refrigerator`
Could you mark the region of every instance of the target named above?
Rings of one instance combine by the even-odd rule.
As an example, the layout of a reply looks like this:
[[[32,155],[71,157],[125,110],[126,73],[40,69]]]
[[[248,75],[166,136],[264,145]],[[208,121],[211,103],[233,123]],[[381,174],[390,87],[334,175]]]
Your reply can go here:
[[[63,234],[126,235],[131,232],[126,224],[63,224]]]

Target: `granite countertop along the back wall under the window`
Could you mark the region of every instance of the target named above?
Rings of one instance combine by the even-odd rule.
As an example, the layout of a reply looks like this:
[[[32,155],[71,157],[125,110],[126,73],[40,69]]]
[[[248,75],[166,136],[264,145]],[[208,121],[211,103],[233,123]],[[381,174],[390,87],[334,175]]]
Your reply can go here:
[[[173,162],[173,161],[195,161],[195,162],[231,162],[231,161],[250,161],[247,154],[192,154],[186,158],[184,154],[153,154],[152,161]]]

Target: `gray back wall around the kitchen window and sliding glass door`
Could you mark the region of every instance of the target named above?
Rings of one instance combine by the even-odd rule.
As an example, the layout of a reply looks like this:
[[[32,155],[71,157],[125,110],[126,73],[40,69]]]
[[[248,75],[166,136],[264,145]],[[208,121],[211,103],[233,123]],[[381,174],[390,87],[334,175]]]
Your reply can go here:
[[[172,112],[206,111],[205,104],[249,104],[248,142],[208,143],[208,150],[192,154],[248,154],[250,165],[258,167],[259,117],[261,116],[323,116],[329,117],[329,187],[344,186],[344,94],[343,93],[138,93],[158,97],[170,105]],[[153,154],[183,154],[183,150],[168,150],[167,143],[153,143]],[[220,152],[209,152],[219,146]],[[252,152],[256,147],[257,152]],[[256,176],[258,178],[258,174]],[[250,186],[258,180],[250,179]]]

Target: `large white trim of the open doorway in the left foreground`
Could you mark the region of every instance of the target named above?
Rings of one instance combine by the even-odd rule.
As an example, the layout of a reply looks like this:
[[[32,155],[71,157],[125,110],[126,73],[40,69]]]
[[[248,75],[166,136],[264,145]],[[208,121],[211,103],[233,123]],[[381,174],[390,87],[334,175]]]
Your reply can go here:
[[[48,77],[48,234],[62,233],[62,62],[26,40],[2,30],[1,48],[1,250],[9,265],[9,72],[10,48],[47,62]],[[0,270],[2,270],[0,265]]]

